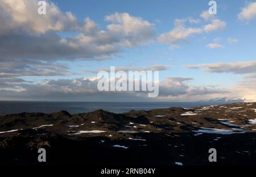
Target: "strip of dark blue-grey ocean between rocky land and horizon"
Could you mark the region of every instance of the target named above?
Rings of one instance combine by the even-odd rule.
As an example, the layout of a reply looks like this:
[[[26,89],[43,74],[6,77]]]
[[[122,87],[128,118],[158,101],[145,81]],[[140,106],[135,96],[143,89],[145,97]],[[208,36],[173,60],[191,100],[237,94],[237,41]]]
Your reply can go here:
[[[91,112],[96,109],[104,109],[114,113],[122,113],[136,110],[149,110],[156,108],[169,107],[195,107],[202,105],[216,105],[225,103],[209,103],[209,102],[32,102],[32,101],[0,101],[0,115],[21,112],[43,112],[51,113],[61,110],[69,113]]]

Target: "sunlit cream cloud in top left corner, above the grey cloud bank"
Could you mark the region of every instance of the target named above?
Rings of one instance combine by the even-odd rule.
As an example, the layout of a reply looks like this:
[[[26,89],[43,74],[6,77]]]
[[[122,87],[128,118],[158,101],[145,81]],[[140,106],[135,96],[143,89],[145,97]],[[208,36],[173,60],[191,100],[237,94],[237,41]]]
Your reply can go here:
[[[46,15],[39,15],[38,1],[20,0],[0,2],[0,36],[9,33],[35,35],[47,31],[76,31],[80,24],[71,12],[63,13],[46,1]]]

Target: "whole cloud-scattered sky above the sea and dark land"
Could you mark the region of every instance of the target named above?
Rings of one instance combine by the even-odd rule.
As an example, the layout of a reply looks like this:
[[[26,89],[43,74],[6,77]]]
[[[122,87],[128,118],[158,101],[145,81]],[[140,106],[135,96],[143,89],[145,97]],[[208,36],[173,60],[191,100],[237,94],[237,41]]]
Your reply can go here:
[[[0,1],[0,100],[256,101],[256,2]],[[159,70],[159,96],[98,91],[97,71]]]

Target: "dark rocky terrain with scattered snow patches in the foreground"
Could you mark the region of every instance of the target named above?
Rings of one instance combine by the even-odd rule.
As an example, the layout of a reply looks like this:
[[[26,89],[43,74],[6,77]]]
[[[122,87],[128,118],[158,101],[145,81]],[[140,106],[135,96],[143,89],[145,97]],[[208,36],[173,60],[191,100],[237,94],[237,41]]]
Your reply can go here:
[[[0,116],[0,165],[256,165],[256,103]],[[38,149],[47,162],[38,162]],[[217,162],[208,150],[217,150]]]

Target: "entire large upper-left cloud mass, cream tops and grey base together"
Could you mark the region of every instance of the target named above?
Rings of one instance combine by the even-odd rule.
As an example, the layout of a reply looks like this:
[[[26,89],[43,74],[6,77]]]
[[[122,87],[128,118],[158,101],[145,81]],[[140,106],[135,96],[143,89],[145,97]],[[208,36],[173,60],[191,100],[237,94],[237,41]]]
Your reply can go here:
[[[0,2],[1,58],[100,60],[123,47],[144,44],[155,33],[154,24],[127,13],[106,16],[110,24],[101,30],[92,19],[86,17],[80,23],[71,12],[64,13],[49,1],[46,15],[39,15],[37,2]],[[79,34],[66,38],[57,35],[66,31]]]

